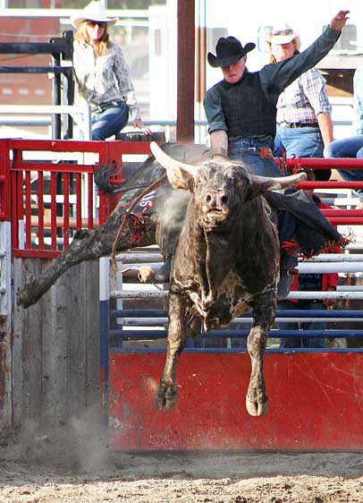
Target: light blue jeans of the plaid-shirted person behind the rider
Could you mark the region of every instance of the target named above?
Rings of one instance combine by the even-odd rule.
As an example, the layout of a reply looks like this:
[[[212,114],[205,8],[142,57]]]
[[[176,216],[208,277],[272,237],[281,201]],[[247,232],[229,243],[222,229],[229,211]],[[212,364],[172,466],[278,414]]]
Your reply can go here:
[[[274,156],[287,158],[322,158],[324,142],[317,127],[287,128],[277,124],[274,138]]]

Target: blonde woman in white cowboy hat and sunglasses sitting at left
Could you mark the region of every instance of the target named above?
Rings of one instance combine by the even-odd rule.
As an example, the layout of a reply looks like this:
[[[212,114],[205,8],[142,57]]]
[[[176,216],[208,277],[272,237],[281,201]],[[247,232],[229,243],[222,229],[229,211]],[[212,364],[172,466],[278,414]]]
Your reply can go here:
[[[120,132],[129,112],[134,127],[147,134],[139,115],[131,74],[120,46],[110,41],[108,27],[117,19],[107,17],[105,7],[92,1],[72,17],[73,71],[79,95],[92,107],[92,140]]]

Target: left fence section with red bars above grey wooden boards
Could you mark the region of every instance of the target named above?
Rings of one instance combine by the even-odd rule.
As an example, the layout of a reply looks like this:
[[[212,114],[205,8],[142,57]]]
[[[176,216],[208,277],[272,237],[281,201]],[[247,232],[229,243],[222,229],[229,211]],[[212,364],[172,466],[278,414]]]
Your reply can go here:
[[[28,310],[16,294],[114,208],[94,168],[114,162],[121,181],[125,156],[148,153],[145,142],[0,140],[0,428],[58,424],[99,402],[98,264],[72,268]]]

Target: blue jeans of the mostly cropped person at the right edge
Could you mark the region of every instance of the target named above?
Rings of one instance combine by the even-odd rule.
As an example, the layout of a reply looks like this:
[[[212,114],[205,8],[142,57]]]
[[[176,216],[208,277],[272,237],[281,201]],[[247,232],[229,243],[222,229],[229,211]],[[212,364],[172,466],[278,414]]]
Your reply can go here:
[[[344,140],[332,141],[324,149],[325,158],[363,159],[363,134],[351,136]],[[362,169],[338,169],[339,175],[346,182],[363,182]],[[363,189],[357,189],[359,200],[363,201]]]

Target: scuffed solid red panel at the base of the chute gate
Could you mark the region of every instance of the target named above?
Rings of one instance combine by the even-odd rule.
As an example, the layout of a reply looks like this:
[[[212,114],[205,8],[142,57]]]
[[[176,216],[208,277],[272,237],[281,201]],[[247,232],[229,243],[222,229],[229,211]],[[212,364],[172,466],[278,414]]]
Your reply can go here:
[[[110,354],[112,448],[363,448],[363,354],[266,354],[270,405],[259,418],[245,408],[248,354],[182,354],[169,412],[154,406],[164,362],[165,354]]]

